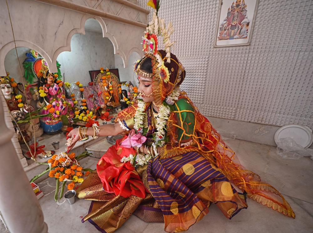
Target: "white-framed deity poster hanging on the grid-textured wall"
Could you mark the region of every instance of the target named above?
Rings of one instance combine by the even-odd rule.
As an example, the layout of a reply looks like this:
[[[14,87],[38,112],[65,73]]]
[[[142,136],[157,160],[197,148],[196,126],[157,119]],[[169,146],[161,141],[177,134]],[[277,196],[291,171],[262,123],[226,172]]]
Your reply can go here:
[[[250,45],[259,0],[220,0],[214,47]]]

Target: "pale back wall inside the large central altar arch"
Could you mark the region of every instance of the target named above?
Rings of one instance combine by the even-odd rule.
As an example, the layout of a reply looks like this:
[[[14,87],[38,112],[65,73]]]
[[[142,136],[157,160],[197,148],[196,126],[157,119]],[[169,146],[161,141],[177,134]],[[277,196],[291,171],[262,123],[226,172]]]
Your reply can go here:
[[[100,33],[88,31],[85,35],[74,34],[71,51],[60,53],[57,60],[61,64],[61,73],[64,73],[66,82],[80,81],[83,85],[90,82],[89,70],[100,70],[100,67],[115,68],[111,41],[103,38]]]

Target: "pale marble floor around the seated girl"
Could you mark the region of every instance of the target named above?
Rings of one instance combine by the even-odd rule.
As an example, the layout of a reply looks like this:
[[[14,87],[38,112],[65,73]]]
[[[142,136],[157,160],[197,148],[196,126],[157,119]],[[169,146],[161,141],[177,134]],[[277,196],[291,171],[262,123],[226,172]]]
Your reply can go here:
[[[286,160],[279,158],[275,147],[229,140],[228,145],[237,153],[241,163],[249,170],[278,189],[293,208],[296,218],[292,219],[248,199],[248,209],[242,210],[228,220],[212,205],[208,215],[188,232],[313,232],[313,161],[310,158]],[[84,167],[95,168],[98,158],[81,160]],[[50,233],[54,232],[98,232],[89,222],[81,223],[88,212],[91,201],[76,198],[73,205],[64,199],[54,202],[55,180],[45,179],[38,183],[44,192],[39,203]],[[161,233],[163,223],[146,223],[132,215],[116,233]]]

